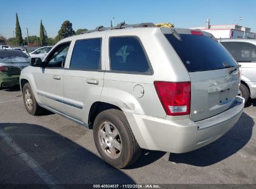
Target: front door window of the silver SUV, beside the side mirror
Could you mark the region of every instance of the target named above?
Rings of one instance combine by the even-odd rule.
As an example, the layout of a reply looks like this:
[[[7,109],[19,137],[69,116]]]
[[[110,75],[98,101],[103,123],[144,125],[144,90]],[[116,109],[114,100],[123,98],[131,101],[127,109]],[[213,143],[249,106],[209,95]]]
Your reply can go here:
[[[70,42],[61,44],[56,47],[47,58],[47,67],[64,67],[67,52],[69,51]]]

